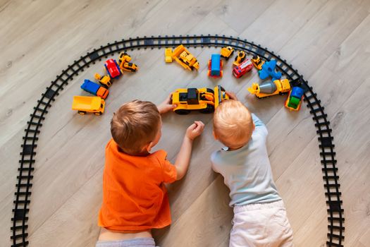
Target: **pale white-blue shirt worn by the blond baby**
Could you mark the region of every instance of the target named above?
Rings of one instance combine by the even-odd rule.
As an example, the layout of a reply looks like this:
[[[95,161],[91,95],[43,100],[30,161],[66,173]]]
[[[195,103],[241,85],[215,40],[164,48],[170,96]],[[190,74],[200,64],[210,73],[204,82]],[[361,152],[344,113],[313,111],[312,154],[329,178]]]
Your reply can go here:
[[[230,207],[281,200],[266,150],[267,128],[256,115],[252,119],[256,128],[247,145],[231,151],[223,147],[211,155],[212,168],[230,188]]]

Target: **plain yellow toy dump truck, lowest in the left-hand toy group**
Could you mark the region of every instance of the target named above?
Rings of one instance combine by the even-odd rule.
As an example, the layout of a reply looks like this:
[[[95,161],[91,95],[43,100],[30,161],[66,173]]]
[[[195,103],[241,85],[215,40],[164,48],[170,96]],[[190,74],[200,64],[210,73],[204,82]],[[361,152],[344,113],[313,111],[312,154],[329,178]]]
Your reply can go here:
[[[78,114],[85,115],[93,112],[99,116],[104,113],[105,102],[101,97],[93,96],[73,96],[72,109],[77,110]]]

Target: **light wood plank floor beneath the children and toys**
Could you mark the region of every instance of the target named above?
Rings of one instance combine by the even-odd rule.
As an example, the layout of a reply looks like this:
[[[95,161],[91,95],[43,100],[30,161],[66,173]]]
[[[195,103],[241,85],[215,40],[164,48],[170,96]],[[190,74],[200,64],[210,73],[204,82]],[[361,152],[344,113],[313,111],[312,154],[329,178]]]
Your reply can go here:
[[[370,1],[7,1],[0,0],[0,246],[10,246],[20,144],[42,92],[68,64],[107,42],[144,35],[218,34],[252,40],[280,54],[318,93],[331,121],[345,209],[345,246],[370,246]],[[206,76],[218,49],[190,48],[199,72],[164,63],[164,50],[129,52],[140,71],[113,84],[103,116],[70,110],[84,78],[73,80],[49,109],[37,143],[29,219],[30,246],[94,246],[99,235],[104,146],[109,121],[132,99],[159,103],[175,88],[221,84],[268,126],[268,150],[296,246],[325,246],[327,213],[319,147],[307,107],[283,107],[285,97],[257,100],[226,63],[222,79]],[[160,246],[228,246],[232,209],[209,155],[211,115],[164,116],[158,148],[174,161],[185,128],[206,123],[187,176],[169,191],[173,224],[154,231]]]

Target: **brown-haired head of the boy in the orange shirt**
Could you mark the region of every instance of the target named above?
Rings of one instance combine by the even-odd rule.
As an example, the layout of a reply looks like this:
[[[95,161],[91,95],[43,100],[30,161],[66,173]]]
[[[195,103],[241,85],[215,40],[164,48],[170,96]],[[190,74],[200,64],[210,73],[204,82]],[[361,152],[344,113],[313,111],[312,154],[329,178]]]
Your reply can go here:
[[[140,155],[161,138],[161,115],[152,102],[133,100],[113,114],[111,134],[123,152]]]

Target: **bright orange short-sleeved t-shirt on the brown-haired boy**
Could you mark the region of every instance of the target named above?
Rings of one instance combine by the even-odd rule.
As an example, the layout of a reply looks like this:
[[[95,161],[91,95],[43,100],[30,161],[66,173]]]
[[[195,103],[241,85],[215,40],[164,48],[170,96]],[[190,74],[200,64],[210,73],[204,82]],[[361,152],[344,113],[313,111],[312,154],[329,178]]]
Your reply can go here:
[[[147,156],[119,151],[111,139],[106,145],[103,203],[98,224],[110,230],[138,231],[171,224],[164,183],[176,180],[175,166],[164,150]]]

